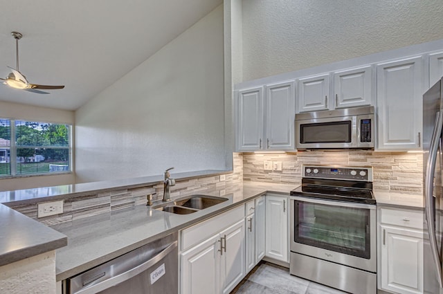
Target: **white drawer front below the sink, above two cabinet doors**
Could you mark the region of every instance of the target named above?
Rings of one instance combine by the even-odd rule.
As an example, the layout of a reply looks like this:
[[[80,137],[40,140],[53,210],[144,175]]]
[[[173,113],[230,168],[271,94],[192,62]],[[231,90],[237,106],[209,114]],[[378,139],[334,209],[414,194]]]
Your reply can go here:
[[[180,249],[187,250],[244,218],[244,204],[181,231]]]

